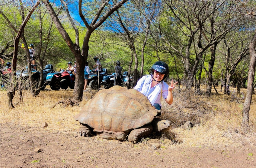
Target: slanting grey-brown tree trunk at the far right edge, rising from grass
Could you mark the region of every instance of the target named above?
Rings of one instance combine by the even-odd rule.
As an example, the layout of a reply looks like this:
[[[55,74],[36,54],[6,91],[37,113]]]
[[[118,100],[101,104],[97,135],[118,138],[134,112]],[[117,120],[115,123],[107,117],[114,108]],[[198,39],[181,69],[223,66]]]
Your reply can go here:
[[[253,81],[254,81],[254,73],[255,73],[255,65],[256,65],[256,53],[255,53],[255,45],[256,45],[256,32],[254,33],[253,39],[250,42],[250,66],[248,71],[248,80],[247,80],[247,92],[246,98],[244,101],[244,108],[242,111],[242,126],[248,126],[249,124],[249,111],[251,105],[251,97],[253,93]]]

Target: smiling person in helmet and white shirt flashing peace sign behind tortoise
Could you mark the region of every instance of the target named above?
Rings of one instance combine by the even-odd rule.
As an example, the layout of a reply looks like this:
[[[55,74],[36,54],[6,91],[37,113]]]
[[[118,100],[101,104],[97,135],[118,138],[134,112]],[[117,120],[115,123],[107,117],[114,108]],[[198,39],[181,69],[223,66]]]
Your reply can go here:
[[[155,62],[152,65],[150,74],[140,78],[134,89],[147,96],[151,104],[157,110],[161,110],[161,97],[168,104],[172,104],[172,90],[178,82],[173,83],[172,80],[170,86],[165,83],[165,78],[169,76],[169,66],[162,61]]]

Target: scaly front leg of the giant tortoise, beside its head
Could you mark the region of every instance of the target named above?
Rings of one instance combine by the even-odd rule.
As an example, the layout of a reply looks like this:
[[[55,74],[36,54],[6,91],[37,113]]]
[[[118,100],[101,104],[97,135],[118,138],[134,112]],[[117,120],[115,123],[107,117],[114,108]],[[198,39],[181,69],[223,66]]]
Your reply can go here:
[[[151,124],[145,125],[143,127],[140,127],[138,129],[134,129],[130,132],[129,136],[128,136],[128,140],[130,142],[134,142],[137,143],[138,140],[140,138],[142,138],[143,136],[148,136],[150,135],[150,133],[152,132],[153,127],[151,126]]]

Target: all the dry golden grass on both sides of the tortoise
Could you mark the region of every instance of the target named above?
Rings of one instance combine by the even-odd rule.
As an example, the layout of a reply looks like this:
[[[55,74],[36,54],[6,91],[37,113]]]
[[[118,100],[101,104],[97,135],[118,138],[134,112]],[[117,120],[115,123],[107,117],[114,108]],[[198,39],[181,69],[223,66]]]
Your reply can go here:
[[[48,86],[47,86],[48,88]],[[218,87],[218,91],[219,91]],[[214,90],[212,91],[215,92]],[[242,92],[246,93],[243,89]],[[220,92],[219,92],[220,93]],[[28,91],[23,97],[23,104],[15,105],[10,110],[7,105],[7,91],[0,91],[0,117],[1,123],[16,123],[40,127],[43,121],[49,126],[45,130],[75,132],[79,123],[73,119],[86,102],[95,94],[85,92],[83,101],[76,107],[61,107],[57,105],[50,108],[56,102],[67,99],[73,94],[73,90],[44,90],[36,98]],[[256,95],[250,109],[250,127],[248,130],[241,128],[242,103],[239,95],[238,100],[230,101],[227,95],[212,95],[210,98],[204,95],[194,95],[186,92],[174,93],[172,105],[163,104],[162,118],[172,122],[172,132],[162,136],[162,144],[168,146],[168,139],[176,139],[181,142],[179,146],[211,146],[211,145],[238,145],[236,139],[248,140],[256,137]],[[14,104],[18,102],[15,95]],[[183,129],[181,124],[190,120],[195,123],[191,129]],[[172,145],[175,147],[175,145]]]

